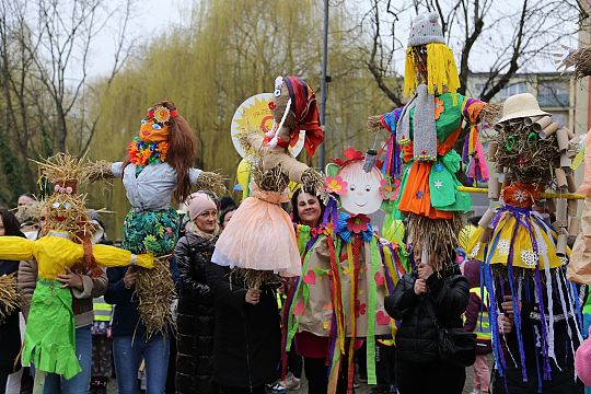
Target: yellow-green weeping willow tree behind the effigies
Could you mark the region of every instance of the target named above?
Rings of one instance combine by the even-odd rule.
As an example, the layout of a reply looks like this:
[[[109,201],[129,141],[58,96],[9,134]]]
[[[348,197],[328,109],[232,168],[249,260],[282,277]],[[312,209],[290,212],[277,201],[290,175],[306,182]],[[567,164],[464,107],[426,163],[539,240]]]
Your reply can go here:
[[[199,2],[188,18],[186,27],[171,28],[141,48],[103,90],[94,108],[101,117],[91,146],[93,159],[124,160],[126,143],[138,131],[147,107],[166,99],[196,131],[196,165],[233,179],[241,158],[232,146],[230,125],[245,99],[270,92],[280,74],[304,78],[320,99],[322,2],[210,0]],[[332,9],[328,158],[346,146],[367,148],[367,116],[390,105],[344,21],[345,14]],[[105,219],[118,234],[127,210],[123,187],[115,181],[113,189],[95,192],[93,204],[116,212]]]

